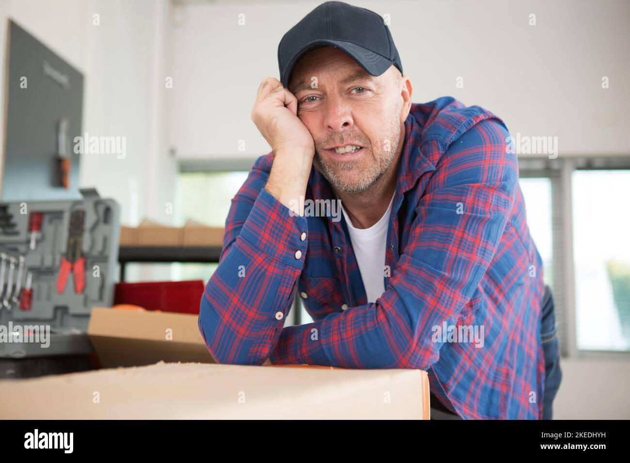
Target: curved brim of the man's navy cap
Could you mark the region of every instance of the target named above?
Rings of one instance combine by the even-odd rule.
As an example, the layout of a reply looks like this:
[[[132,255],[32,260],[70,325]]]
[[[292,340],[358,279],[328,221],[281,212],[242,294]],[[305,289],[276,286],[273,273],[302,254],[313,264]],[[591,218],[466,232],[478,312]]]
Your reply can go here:
[[[355,43],[351,42],[343,42],[341,40],[315,40],[314,42],[309,42],[305,45],[299,52],[297,52],[289,61],[289,64],[284,69],[284,75],[281,77],[281,82],[283,87],[287,87],[289,84],[289,77],[291,76],[291,72],[295,67],[297,61],[302,57],[302,55],[310,52],[311,50],[318,49],[321,47],[331,46],[337,49],[346,52],[353,60],[357,62],[359,66],[365,69],[365,72],[372,76],[380,76],[383,72],[387,71],[394,62],[390,59],[387,59],[383,55],[379,55],[378,53],[374,53],[368,49],[364,49],[364,47],[360,47]]]

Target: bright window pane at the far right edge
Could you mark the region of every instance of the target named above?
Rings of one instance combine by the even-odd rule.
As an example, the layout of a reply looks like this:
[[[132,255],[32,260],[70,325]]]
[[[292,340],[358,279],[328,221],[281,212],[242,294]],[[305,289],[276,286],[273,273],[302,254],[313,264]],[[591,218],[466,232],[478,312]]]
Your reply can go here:
[[[573,172],[580,350],[630,349],[630,170]]]

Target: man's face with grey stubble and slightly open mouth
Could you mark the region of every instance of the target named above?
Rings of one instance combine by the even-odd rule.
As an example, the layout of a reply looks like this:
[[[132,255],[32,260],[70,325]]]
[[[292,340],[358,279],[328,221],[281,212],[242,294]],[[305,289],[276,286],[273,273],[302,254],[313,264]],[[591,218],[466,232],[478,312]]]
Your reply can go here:
[[[341,50],[324,47],[301,57],[289,91],[315,142],[313,164],[333,188],[360,193],[374,185],[398,151],[408,114],[398,69],[370,76]],[[348,145],[360,149],[335,149]]]

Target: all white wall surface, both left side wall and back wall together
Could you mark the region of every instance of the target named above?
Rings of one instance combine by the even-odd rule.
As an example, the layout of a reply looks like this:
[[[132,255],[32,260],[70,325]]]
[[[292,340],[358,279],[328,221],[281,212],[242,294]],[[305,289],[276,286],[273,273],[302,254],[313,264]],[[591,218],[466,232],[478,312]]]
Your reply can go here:
[[[389,14],[414,101],[452,95],[479,104],[512,134],[558,136],[560,156],[629,155],[630,3],[353,3]],[[280,38],[317,4],[217,0],[173,12],[168,0],[3,0],[0,57],[4,63],[13,18],[83,72],[83,129],[125,135],[127,157],[84,156],[81,185],[122,203],[125,224],[145,216],[170,223],[176,163],[169,148],[179,159],[268,152],[249,111],[260,81],[278,77]],[[530,13],[536,26],[528,25]],[[164,87],[166,76],[173,89]]]

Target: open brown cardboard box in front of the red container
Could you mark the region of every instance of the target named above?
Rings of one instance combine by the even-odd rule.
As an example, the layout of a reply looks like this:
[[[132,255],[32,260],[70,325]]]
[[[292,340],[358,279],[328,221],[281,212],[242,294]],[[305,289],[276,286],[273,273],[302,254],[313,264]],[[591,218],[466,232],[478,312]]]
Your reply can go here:
[[[164,362],[213,363],[197,315],[95,307],[88,336],[105,368]]]

